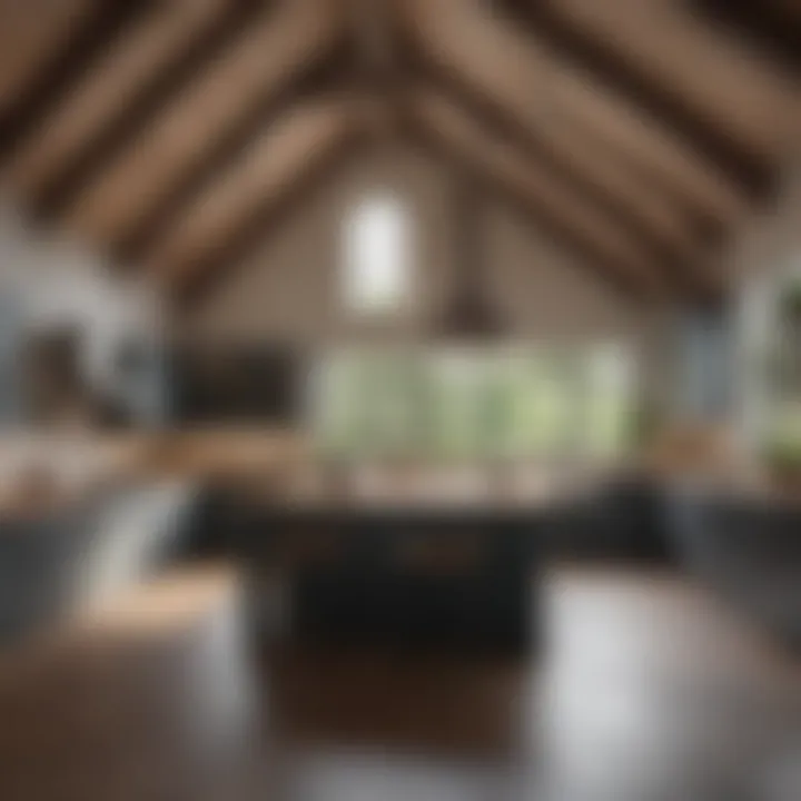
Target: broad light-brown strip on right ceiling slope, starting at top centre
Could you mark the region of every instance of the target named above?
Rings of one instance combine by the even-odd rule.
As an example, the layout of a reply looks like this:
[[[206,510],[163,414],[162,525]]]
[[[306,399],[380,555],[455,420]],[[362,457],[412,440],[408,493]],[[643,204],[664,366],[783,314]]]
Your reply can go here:
[[[560,58],[542,38],[493,16],[479,0],[405,0],[405,17],[429,55],[484,86],[527,126],[625,169],[650,197],[723,224],[748,210],[731,178],[645,109],[594,73]]]

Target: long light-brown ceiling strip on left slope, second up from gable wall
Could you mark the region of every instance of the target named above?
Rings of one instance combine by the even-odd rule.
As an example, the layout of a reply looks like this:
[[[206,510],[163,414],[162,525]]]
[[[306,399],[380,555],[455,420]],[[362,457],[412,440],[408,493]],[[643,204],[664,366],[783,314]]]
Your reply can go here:
[[[343,14],[328,0],[293,0],[259,16],[81,192],[65,225],[106,245],[128,236],[231,128],[343,33]]]

